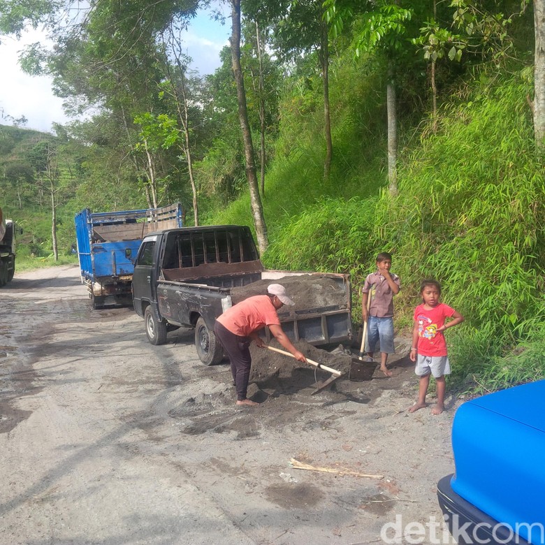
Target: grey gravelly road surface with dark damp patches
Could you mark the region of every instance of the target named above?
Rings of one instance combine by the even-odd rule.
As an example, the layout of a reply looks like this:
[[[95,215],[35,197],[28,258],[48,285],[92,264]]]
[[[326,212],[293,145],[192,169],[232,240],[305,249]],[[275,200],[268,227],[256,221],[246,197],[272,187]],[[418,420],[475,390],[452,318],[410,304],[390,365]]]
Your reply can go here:
[[[449,542],[456,402],[407,413],[406,345],[390,379],[312,396],[314,368],[257,373],[251,408],[192,330],[152,346],[132,309],[92,310],[76,267],[17,273],[0,317],[1,544]]]

